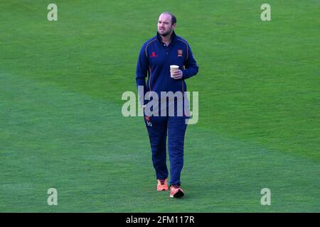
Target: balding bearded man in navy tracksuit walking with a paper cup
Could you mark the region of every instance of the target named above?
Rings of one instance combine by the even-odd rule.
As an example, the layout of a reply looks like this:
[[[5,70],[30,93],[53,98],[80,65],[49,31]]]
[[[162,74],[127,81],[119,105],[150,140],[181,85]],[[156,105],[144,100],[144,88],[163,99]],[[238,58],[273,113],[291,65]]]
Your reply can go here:
[[[161,13],[158,21],[158,32],[142,45],[137,63],[136,82],[138,89],[143,88],[142,96],[148,96],[146,92],[174,92],[184,94],[186,92],[185,79],[197,74],[198,66],[193,57],[191,48],[183,38],[174,33],[176,28],[176,17],[169,12]],[[179,70],[170,72],[170,65],[177,65]],[[146,77],[148,76],[147,82]],[[144,98],[140,97],[140,98]],[[182,101],[184,96],[182,95]],[[144,113],[144,121],[149,134],[152,152],[152,162],[156,170],[158,181],[157,190],[167,191],[167,178],[169,175],[166,166],[166,137],[168,135],[168,150],[170,161],[170,196],[179,198],[184,195],[181,189],[181,170],[183,167],[183,143],[186,133],[186,118],[178,114],[181,100],[174,99],[174,116],[168,114],[169,104],[162,102],[154,107],[156,114],[149,116]],[[148,101],[144,99],[143,107]],[[183,103],[183,102],[182,102]],[[163,111],[165,109],[165,111]],[[161,111],[160,111],[161,110]],[[161,114],[159,114],[161,112]],[[153,109],[154,113],[154,109]],[[166,113],[163,116],[163,113]]]

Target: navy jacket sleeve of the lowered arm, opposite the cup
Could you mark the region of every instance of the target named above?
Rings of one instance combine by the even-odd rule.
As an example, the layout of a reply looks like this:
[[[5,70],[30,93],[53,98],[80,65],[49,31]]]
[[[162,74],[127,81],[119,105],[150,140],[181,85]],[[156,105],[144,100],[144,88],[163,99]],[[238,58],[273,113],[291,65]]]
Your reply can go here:
[[[146,94],[146,76],[148,72],[149,61],[146,57],[145,45],[142,45],[142,48],[139,53],[137,70],[136,70],[136,83],[138,89],[139,103],[145,105],[147,101],[144,101],[144,95]],[[143,92],[142,88],[143,87]]]

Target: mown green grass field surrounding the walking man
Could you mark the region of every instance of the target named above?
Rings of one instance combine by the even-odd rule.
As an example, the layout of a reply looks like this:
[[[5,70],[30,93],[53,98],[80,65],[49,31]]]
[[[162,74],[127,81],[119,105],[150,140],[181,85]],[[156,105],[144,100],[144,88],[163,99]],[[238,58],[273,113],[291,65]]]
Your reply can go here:
[[[121,113],[161,11],[200,67],[183,199],[156,192],[143,118]],[[318,0],[2,0],[0,211],[320,212],[319,15]]]

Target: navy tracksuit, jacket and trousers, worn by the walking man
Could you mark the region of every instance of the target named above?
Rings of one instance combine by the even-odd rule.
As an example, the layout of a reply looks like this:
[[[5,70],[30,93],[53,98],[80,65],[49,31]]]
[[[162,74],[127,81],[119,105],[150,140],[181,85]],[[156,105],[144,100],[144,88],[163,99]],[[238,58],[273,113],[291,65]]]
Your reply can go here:
[[[178,65],[183,72],[182,79],[170,76],[170,65]],[[137,86],[144,87],[144,94],[156,92],[186,92],[185,79],[197,74],[198,66],[186,40],[172,33],[168,46],[162,43],[157,33],[142,45],[137,63]],[[146,82],[146,77],[149,76]],[[148,101],[144,101],[146,104]],[[160,105],[160,104],[159,104]],[[163,108],[164,106],[161,106]],[[160,112],[159,112],[160,113]],[[175,110],[176,113],[176,110]],[[170,184],[181,184],[180,175],[183,167],[183,141],[186,133],[186,118],[183,116],[151,116],[144,118],[149,134],[152,161],[157,179],[166,179],[169,175],[166,167],[166,136],[170,161]]]

